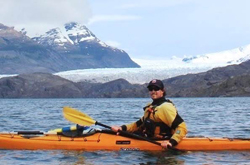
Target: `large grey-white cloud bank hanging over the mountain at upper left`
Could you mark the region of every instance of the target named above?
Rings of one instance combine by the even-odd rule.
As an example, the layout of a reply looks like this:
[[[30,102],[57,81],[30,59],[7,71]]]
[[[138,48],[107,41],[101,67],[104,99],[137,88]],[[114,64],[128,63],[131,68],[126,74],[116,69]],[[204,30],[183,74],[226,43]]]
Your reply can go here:
[[[69,21],[87,23],[91,16],[87,0],[0,0],[0,23],[28,32]]]

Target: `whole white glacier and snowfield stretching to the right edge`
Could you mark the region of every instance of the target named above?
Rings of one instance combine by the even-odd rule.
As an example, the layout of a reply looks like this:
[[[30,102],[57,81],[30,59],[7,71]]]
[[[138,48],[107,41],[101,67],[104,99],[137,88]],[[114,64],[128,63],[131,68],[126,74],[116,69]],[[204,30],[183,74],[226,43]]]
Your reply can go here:
[[[211,54],[171,59],[133,59],[141,68],[85,69],[59,72],[56,75],[74,82],[108,82],[124,78],[131,83],[146,83],[151,79],[167,79],[178,75],[199,73],[214,67],[239,64],[250,59],[250,45]]]

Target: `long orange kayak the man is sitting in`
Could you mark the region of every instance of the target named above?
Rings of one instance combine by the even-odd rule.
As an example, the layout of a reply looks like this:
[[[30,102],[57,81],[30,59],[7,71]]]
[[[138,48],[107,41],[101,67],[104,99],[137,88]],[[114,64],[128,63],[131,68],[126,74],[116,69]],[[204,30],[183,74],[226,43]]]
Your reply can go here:
[[[161,141],[158,141],[161,142]],[[250,139],[186,137],[177,146],[183,151],[250,150]],[[96,131],[81,137],[46,133],[0,133],[0,149],[9,150],[165,150],[144,140]]]

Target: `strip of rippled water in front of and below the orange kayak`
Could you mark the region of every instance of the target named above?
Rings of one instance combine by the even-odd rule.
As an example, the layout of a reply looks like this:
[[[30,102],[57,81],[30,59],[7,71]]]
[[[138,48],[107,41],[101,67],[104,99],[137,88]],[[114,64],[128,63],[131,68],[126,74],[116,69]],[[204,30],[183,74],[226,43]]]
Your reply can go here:
[[[250,164],[250,151],[10,151],[0,152],[1,164]]]

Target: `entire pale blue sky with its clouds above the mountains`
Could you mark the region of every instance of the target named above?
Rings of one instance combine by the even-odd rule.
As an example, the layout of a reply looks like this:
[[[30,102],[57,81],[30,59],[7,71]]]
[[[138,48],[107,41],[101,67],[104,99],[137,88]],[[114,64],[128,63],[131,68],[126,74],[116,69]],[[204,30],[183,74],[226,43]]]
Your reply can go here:
[[[0,23],[43,34],[78,22],[132,59],[166,60],[250,44],[249,0],[0,0]]]

